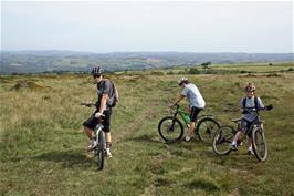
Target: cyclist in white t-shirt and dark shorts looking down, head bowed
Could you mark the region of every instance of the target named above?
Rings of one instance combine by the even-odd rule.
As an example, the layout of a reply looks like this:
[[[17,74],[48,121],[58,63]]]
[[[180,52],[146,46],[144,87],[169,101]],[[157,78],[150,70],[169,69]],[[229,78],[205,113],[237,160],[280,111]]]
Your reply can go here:
[[[198,87],[190,83],[187,78],[182,78],[178,81],[179,86],[182,87],[181,93],[172,104],[176,105],[182,99],[187,97],[189,102],[189,110],[190,110],[190,128],[189,133],[186,135],[186,141],[190,141],[193,137],[195,133],[195,122],[196,118],[201,110],[206,106],[206,101],[203,100],[201,93],[199,92]]]

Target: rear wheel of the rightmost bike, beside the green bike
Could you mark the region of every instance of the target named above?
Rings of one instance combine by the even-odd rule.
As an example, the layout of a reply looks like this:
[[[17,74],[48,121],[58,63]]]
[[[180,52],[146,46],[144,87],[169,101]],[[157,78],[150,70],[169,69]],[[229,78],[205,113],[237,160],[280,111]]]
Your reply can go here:
[[[231,153],[231,142],[234,137],[234,128],[231,126],[221,126],[212,140],[212,149],[217,155],[228,155]]]

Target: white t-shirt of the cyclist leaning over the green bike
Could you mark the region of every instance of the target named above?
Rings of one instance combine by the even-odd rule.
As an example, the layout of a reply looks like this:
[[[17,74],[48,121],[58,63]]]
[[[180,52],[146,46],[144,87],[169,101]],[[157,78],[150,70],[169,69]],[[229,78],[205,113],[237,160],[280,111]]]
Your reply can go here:
[[[196,106],[198,109],[203,109],[206,106],[206,101],[195,84],[189,83],[186,85],[181,94],[187,97],[190,107]]]

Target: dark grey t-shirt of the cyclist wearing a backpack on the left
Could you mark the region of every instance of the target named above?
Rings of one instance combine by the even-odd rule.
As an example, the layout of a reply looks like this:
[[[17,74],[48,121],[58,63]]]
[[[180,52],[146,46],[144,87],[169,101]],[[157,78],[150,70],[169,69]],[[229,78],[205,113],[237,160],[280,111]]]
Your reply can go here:
[[[112,82],[108,80],[103,80],[99,83],[97,83],[97,95],[98,95],[98,101],[96,102],[97,110],[99,110],[101,107],[101,100],[102,100],[103,94],[107,94],[108,97],[111,97],[113,94]],[[111,110],[111,107],[106,103],[106,111],[108,110]]]

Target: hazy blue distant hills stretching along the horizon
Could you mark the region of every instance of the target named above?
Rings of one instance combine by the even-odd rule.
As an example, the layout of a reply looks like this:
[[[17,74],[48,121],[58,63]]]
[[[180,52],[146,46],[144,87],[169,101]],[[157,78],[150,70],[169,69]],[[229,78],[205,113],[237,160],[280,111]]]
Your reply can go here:
[[[1,51],[0,73],[38,73],[44,71],[88,71],[99,64],[108,71],[144,70],[169,66],[195,66],[203,62],[284,62],[293,53],[190,53],[190,52],[113,52],[76,51]]]

